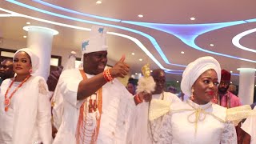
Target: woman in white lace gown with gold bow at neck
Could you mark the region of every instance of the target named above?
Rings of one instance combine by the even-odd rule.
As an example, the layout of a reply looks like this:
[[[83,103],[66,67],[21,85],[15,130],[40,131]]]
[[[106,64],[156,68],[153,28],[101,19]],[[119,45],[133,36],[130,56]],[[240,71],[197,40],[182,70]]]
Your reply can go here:
[[[158,129],[158,143],[237,143],[234,124],[226,121],[226,108],[211,102],[220,78],[221,67],[212,57],[198,58],[186,67],[181,89],[191,97],[170,106]]]

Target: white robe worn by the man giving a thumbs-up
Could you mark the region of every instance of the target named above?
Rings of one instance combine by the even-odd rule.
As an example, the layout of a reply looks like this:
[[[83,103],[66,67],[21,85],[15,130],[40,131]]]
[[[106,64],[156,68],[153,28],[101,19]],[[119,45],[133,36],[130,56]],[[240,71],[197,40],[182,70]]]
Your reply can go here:
[[[90,74],[86,76],[93,77]],[[82,75],[77,69],[65,70],[59,78],[58,89],[63,98],[63,113],[54,144],[76,143],[79,110],[85,101],[77,100],[78,85],[81,81]],[[97,143],[125,143],[131,111],[134,108],[132,95],[116,78],[114,83],[108,82],[102,86],[102,118]]]

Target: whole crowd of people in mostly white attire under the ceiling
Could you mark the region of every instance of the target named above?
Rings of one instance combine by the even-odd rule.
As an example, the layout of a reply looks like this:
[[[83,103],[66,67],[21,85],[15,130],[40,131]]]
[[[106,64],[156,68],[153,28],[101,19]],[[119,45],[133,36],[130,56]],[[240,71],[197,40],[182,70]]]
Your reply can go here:
[[[82,67],[58,67],[47,82],[34,75],[40,59],[31,49],[1,62],[0,143],[256,143],[256,107],[228,91],[231,74],[216,59],[186,66],[178,98],[165,71],[148,65],[144,79],[122,85],[130,66],[122,56],[106,69],[107,49],[106,28],[93,26]]]

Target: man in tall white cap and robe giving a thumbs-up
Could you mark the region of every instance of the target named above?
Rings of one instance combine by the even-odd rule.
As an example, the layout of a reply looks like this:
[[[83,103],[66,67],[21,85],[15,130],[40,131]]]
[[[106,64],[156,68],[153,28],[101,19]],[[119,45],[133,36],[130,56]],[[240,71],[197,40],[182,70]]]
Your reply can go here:
[[[129,66],[122,57],[113,68],[107,62],[106,29],[93,26],[82,43],[83,70],[66,70],[59,78],[63,114],[54,144],[124,143],[134,99],[116,78]],[[58,121],[58,120],[57,120]]]

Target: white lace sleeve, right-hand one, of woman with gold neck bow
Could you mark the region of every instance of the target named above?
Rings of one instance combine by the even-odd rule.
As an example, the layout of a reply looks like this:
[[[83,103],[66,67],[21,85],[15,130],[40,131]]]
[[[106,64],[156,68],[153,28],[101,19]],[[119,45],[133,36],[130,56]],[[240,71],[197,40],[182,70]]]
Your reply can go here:
[[[221,144],[236,144],[238,143],[237,133],[234,124],[226,122],[222,132]]]

